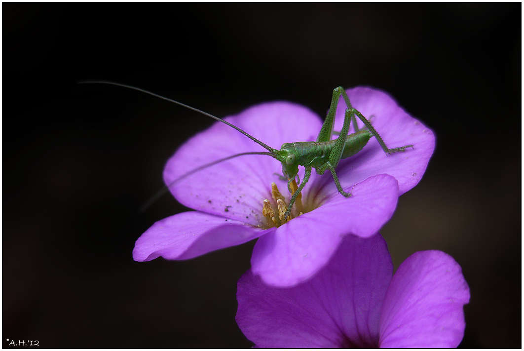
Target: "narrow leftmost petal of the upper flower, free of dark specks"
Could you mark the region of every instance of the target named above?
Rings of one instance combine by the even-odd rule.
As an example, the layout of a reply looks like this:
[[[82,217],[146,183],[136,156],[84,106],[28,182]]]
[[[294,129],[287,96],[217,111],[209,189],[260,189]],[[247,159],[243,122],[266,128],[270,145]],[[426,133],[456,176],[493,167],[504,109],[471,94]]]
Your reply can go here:
[[[160,256],[168,260],[190,259],[242,244],[270,231],[198,211],[182,212],[146,230],[135,243],[133,259],[140,262]]]

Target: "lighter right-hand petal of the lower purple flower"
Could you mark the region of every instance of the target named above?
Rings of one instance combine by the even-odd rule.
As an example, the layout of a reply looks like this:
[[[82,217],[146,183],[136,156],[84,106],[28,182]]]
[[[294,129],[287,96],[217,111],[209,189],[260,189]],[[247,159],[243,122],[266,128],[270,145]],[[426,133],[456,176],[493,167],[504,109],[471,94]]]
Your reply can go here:
[[[380,312],[380,347],[456,347],[470,301],[460,265],[442,251],[420,251],[402,262]]]

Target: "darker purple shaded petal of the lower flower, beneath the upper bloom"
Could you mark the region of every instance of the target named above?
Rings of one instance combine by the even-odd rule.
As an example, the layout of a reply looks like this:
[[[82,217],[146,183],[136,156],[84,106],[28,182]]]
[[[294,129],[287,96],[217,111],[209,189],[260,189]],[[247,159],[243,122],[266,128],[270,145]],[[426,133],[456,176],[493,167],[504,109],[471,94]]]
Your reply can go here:
[[[326,267],[292,288],[272,288],[246,272],[236,321],[259,347],[377,347],[392,270],[380,235],[346,235]]]

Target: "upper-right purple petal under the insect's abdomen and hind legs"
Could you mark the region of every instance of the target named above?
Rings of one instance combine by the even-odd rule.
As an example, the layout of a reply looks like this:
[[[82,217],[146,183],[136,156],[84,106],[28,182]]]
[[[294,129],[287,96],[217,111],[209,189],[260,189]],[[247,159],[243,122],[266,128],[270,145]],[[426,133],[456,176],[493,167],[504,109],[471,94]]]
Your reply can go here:
[[[372,137],[361,152],[339,163],[336,170],[341,184],[343,186],[356,184],[375,174],[386,173],[398,180],[399,195],[407,192],[418,184],[433,154],[435,148],[433,132],[412,118],[383,91],[356,87],[346,92],[353,107],[368,120],[370,119],[387,147],[414,145],[414,148],[386,155]],[[340,99],[335,119],[337,131],[342,129],[346,108],[344,100]],[[357,121],[362,129],[364,124],[358,119]],[[351,126],[350,133],[353,131]],[[322,185],[334,188],[329,179],[323,179]]]

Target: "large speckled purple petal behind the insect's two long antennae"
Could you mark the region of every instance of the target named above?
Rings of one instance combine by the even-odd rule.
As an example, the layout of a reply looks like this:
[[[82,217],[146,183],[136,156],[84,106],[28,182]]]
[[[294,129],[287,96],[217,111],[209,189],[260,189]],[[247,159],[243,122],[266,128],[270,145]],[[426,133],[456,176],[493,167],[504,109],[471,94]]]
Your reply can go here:
[[[284,142],[315,140],[322,125],[319,116],[309,109],[288,102],[260,104],[226,120],[274,148]],[[169,159],[164,180],[170,185],[202,165],[254,151],[266,150],[217,122],[192,137]],[[185,206],[259,226],[265,224],[261,210],[264,199],[271,198],[271,182],[287,188],[275,173],[281,174],[282,166],[270,156],[239,156],[193,172],[169,188]]]

